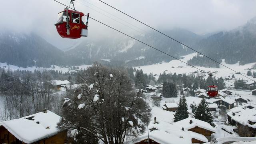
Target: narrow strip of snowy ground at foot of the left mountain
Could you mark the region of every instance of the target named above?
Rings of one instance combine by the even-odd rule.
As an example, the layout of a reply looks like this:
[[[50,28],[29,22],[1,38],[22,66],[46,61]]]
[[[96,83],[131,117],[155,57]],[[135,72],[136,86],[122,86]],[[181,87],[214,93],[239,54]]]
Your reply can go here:
[[[78,67],[79,67],[79,69],[86,69],[89,66],[91,66],[91,65],[80,65]],[[58,70],[59,72],[63,72],[63,73],[75,71],[75,70],[69,70],[69,68],[64,68],[62,66],[56,66],[56,65],[52,65],[50,68],[42,68],[42,67],[36,67],[36,66],[23,68],[23,67],[14,66],[14,65],[11,65],[11,64],[7,65],[6,62],[5,63],[0,62],[0,68],[5,68],[6,70],[8,70],[8,69],[10,69],[10,70],[29,70],[29,71],[32,71],[32,72],[34,72],[34,70],[40,70],[40,71],[43,71],[43,70]]]

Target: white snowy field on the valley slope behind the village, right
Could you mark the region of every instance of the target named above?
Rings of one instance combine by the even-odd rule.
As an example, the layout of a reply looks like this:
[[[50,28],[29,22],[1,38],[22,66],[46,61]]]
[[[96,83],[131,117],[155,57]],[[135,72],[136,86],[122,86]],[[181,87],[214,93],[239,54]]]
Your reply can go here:
[[[191,58],[193,58],[193,56],[196,56],[197,53],[192,53],[192,54],[188,54],[186,56],[183,56],[184,59],[181,59],[184,62],[187,62],[188,60],[190,60]],[[214,74],[214,76],[217,77],[228,77],[230,76],[230,78],[232,77],[232,74],[234,74],[235,78],[243,78],[243,80],[248,80],[248,78],[240,75],[240,74],[235,74],[234,71],[220,65],[220,68],[206,68],[206,67],[200,67],[200,66],[196,66],[196,68],[193,68],[192,66],[187,66],[184,62],[180,62],[179,60],[171,60],[170,62],[162,62],[162,63],[156,63],[156,64],[152,64],[152,65],[147,65],[147,66],[137,66],[135,67],[136,69],[140,70],[142,69],[144,73],[153,73],[153,74],[160,74],[163,73],[164,71],[168,74],[168,73],[174,73],[176,72],[176,74],[192,74],[193,72],[197,71],[199,68],[200,70],[204,70],[205,72],[214,72],[214,71],[218,71]],[[239,63],[239,62],[238,62]],[[223,65],[237,71],[237,72],[241,72],[241,74],[246,75],[247,73],[247,68],[252,68],[252,66],[254,64],[256,64],[256,62],[254,63],[250,63],[250,64],[245,64],[243,66],[240,66],[238,63],[236,64],[226,64],[224,62],[224,60],[222,60]],[[173,68],[174,67],[174,68]],[[253,70],[252,70],[253,72]],[[196,75],[196,74],[195,74]],[[206,74],[205,78],[207,78],[208,75]],[[256,78],[252,78],[251,76],[248,76],[251,79],[256,81]],[[156,76],[156,79],[158,78],[158,76]],[[229,80],[230,82],[234,82],[233,80]],[[227,85],[231,85],[231,83],[228,84],[227,81],[225,81],[225,83]]]

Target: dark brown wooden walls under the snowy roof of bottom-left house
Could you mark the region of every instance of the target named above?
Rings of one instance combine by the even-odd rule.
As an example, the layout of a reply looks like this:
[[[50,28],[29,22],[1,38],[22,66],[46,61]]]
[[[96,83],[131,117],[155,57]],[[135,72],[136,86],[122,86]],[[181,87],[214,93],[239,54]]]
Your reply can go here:
[[[67,131],[64,130],[50,137],[38,140],[32,144],[64,144],[67,141]],[[16,138],[11,132],[9,132],[4,126],[0,126],[0,144],[26,144],[18,138]]]

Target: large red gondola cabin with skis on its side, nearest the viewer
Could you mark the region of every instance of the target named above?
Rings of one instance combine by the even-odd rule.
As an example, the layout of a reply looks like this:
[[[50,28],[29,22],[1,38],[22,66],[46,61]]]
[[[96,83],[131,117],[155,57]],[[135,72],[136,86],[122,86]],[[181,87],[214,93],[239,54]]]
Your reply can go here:
[[[88,16],[85,16],[84,13],[65,9],[64,11],[60,12],[58,16],[59,19],[55,26],[62,38],[76,39],[81,38],[81,36],[88,36],[88,30],[86,25],[88,24]],[[87,22],[85,24],[83,20],[85,21],[86,18]]]

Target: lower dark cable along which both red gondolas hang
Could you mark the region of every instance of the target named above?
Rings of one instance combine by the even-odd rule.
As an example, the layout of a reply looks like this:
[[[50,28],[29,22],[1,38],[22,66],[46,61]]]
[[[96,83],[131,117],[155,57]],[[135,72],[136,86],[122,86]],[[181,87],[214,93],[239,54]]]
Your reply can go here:
[[[54,0],[54,1],[58,2],[57,0]],[[61,2],[58,2],[58,3],[62,4]],[[62,4],[62,5],[66,6],[65,4]],[[70,8],[70,9],[74,10],[73,8]],[[85,15],[85,16],[86,16],[86,15]],[[94,18],[92,18],[92,17],[90,17],[90,16],[89,16],[89,18],[91,18],[92,20],[95,20],[96,22],[99,22],[100,24],[103,24],[104,26],[107,26],[107,27],[109,27],[109,28],[111,28],[111,29],[113,29],[113,30],[116,30],[117,32],[120,32],[121,34],[124,34],[124,35],[126,35],[126,36],[128,36],[128,37],[130,37],[130,38],[132,38],[132,39],[134,39],[134,40],[137,40],[138,42],[140,42],[140,43],[142,43],[142,44],[145,44],[146,46],[149,46],[149,47],[151,47],[151,48],[153,48],[153,49],[155,49],[155,50],[157,50],[157,51],[159,51],[159,52],[162,52],[163,54],[166,54],[166,55],[168,55],[168,56],[170,56],[170,57],[172,57],[172,58],[174,58],[174,59],[176,59],[176,60],[179,60],[180,62],[184,62],[184,61],[182,61],[182,60],[180,60],[180,59],[178,59],[178,58],[176,58],[176,57],[174,57],[174,56],[172,56],[172,55],[170,55],[170,54],[167,54],[166,52],[163,52],[162,50],[159,50],[159,49],[157,49],[157,48],[155,48],[155,47],[153,47],[153,46],[150,46],[149,44],[146,44],[145,42],[142,42],[141,40],[138,40],[138,39],[136,39],[136,38],[134,38],[134,37],[132,37],[132,36],[130,36],[130,35],[124,33],[124,32],[121,32],[120,30],[117,30],[116,28],[113,28],[113,27],[111,27],[111,26],[108,26],[107,24],[104,24],[103,22],[100,22],[99,20],[96,20],[96,19],[94,19]],[[192,66],[192,67],[194,67],[194,68],[196,68],[196,69],[198,69],[198,70],[200,70],[200,71],[202,71],[202,72],[205,72],[204,70],[201,70],[200,68],[197,68],[197,67],[195,67],[195,66],[193,66],[193,65],[191,65],[191,64],[188,64],[187,62],[184,62],[184,63],[187,64],[187,65],[189,65],[189,66]],[[208,73],[208,72],[205,72],[205,73]],[[214,76],[214,75],[212,75],[212,76]],[[230,82],[230,81],[228,81],[228,80],[225,80],[225,79],[223,79],[222,77],[218,77],[218,76],[214,76],[214,77],[215,77],[215,78],[220,78],[220,79],[222,79],[222,80],[224,80],[224,81],[226,81],[226,82],[235,84],[234,82]],[[244,87],[244,88],[247,88],[247,87],[245,87],[245,86],[243,86],[243,87]]]

